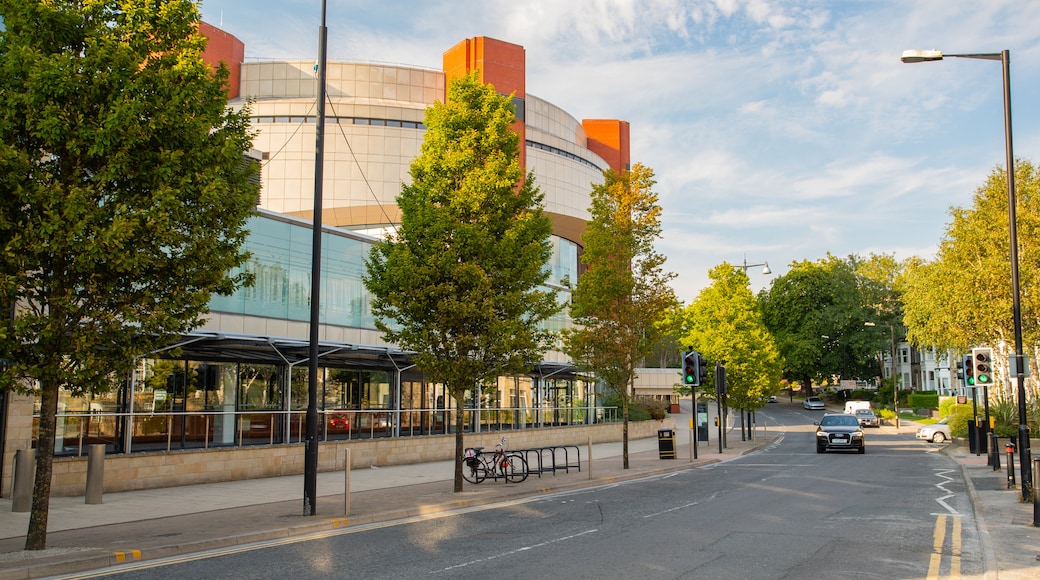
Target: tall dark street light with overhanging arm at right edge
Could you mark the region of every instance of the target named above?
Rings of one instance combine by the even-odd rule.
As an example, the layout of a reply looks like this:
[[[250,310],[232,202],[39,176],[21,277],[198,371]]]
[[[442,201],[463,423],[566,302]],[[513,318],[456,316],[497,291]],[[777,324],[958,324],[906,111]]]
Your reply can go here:
[[[1011,54],[1009,51],[946,54],[938,50],[908,50],[903,62],[942,60],[943,56],[999,60],[1004,65],[1004,137],[1008,157],[1008,229],[1011,236],[1011,304],[1015,324],[1015,379],[1018,386],[1018,466],[1021,468],[1022,500],[1030,499],[1033,476],[1030,468],[1030,428],[1025,422],[1025,365],[1022,357],[1022,310],[1018,289],[1018,228],[1015,221],[1015,157],[1011,147]],[[1036,518],[1034,518],[1035,520]]]

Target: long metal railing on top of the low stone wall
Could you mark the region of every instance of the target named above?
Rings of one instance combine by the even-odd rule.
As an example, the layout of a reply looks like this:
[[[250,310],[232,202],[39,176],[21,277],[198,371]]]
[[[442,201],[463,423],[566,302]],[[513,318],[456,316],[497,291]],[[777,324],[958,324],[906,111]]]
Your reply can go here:
[[[456,430],[457,410],[323,410],[319,411],[321,441],[447,434]],[[616,407],[492,407],[463,410],[467,432],[518,430],[616,422]],[[241,447],[298,443],[306,438],[304,411],[191,411],[145,413],[59,413],[55,453],[82,455],[87,445],[103,444],[108,452],[171,451],[209,447]],[[34,426],[38,415],[33,417]],[[530,462],[529,462],[530,463]],[[549,465],[538,457],[538,471]],[[573,467],[573,466],[572,466]],[[534,471],[532,471],[534,473]]]

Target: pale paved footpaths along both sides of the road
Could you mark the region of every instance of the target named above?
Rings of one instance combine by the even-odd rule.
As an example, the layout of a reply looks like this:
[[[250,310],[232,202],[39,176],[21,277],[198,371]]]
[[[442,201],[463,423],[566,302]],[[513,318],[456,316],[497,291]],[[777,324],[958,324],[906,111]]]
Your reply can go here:
[[[629,469],[623,469],[621,443],[579,446],[580,470],[531,475],[520,483],[465,483],[452,492],[452,462],[354,469],[349,505],[344,472],[319,473],[316,516],[303,516],[303,475],[224,483],[109,493],[102,504],[83,497],[52,498],[47,550],[25,551],[28,513],[11,512],[0,498],[0,580],[76,577],[110,565],[180,556],[206,550],[331,532],[349,526],[379,525],[407,518],[475,507],[524,497],[691,469],[725,462],[773,443],[779,430],[758,426],[742,441],[727,433],[720,452],[716,430],[698,446],[694,459],[688,415],[676,417],[676,457],[661,458],[657,438],[629,442]],[[913,439],[917,425],[901,421],[882,432]],[[938,447],[938,446],[936,446]],[[993,471],[986,455],[957,442],[943,452],[957,460],[981,528],[987,579],[1040,578],[1040,528],[1033,526],[1032,503],[1009,490],[1005,471]],[[1002,457],[1006,468],[1006,457]],[[1016,474],[1017,477],[1017,474]],[[349,513],[344,515],[349,507]]]

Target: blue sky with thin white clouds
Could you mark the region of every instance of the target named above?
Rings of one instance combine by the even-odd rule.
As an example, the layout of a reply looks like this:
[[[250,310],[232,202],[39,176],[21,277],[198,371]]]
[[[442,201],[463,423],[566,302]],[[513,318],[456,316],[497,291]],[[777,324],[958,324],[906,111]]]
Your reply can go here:
[[[316,58],[321,0],[202,0],[246,60]],[[441,68],[458,42],[526,51],[527,91],[631,126],[683,302],[723,262],[757,292],[828,254],[932,259],[952,207],[1014,154],[1040,163],[1038,0],[327,0],[329,59]],[[772,274],[764,274],[761,264]],[[1009,274],[1010,275],[1010,274]]]

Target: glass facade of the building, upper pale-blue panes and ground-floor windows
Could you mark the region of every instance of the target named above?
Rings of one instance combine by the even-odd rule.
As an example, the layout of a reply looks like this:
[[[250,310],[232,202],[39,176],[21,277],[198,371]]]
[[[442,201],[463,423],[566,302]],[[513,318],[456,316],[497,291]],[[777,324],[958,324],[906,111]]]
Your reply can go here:
[[[214,295],[210,310],[269,319],[310,319],[310,223],[263,212],[252,218],[244,265],[255,284],[230,296]],[[373,239],[329,230],[323,234],[322,322],[374,329],[370,295],[362,282]],[[549,286],[566,305],[578,275],[578,246],[553,237]],[[566,309],[546,322],[569,323]],[[186,341],[190,342],[190,341]],[[346,346],[346,345],[344,345]],[[230,351],[229,352],[233,352]],[[255,351],[254,351],[255,354]],[[194,359],[201,358],[199,352]],[[81,454],[85,445],[108,452],[271,445],[304,440],[308,369],[274,350],[269,360],[224,354],[194,360],[140,359],[133,376],[103,394],[62,393],[55,452]],[[318,369],[319,433],[324,441],[451,432],[458,408],[442,385],[414,369],[397,372],[384,360],[371,368],[349,359]],[[465,396],[467,430],[567,425],[592,421],[595,384],[573,374],[538,378],[502,376],[480,397]],[[37,410],[38,415],[38,410]]]

